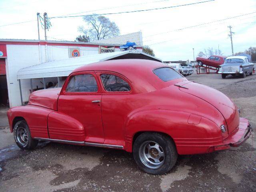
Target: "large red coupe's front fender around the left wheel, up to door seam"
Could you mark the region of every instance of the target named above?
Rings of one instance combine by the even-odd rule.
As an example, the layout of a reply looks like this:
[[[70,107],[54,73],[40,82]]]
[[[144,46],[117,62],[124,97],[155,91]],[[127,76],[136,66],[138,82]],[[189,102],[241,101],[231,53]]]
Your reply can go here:
[[[28,124],[32,138],[49,138],[47,118],[51,112],[54,112],[54,110],[36,105],[26,105],[11,108],[7,111],[10,132],[13,131],[17,120],[24,119]]]

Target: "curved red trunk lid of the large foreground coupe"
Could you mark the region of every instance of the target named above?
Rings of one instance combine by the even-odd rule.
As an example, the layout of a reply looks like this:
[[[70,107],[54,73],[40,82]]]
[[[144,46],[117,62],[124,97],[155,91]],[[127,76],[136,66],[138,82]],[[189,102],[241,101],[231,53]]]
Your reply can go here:
[[[180,86],[182,92],[194,95],[202,100],[212,104],[220,111],[226,120],[229,134],[239,126],[239,112],[236,105],[222,92],[210,88],[208,86],[195,82],[180,82],[176,84]]]

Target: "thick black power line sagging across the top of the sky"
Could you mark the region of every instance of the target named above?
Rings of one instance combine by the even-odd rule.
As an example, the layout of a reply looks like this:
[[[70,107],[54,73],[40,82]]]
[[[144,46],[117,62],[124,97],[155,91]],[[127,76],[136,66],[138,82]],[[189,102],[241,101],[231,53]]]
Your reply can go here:
[[[113,15],[113,14],[121,14],[121,13],[134,13],[134,12],[143,12],[143,11],[161,10],[161,9],[167,9],[167,8],[175,8],[175,7],[181,7],[181,6],[188,6],[188,5],[206,3],[206,2],[210,2],[210,1],[215,1],[215,0],[201,1],[201,2],[196,2],[196,3],[176,5],[176,6],[169,6],[169,7],[161,7],[161,8],[153,8],[153,9],[144,9],[144,10],[135,10],[135,11],[124,11],[124,12],[117,12],[117,13],[103,13],[103,14],[76,15],[76,16],[57,16],[57,17],[51,17],[51,18],[68,18],[68,17],[74,18],[74,17],[84,17],[84,16],[98,16],[98,15]]]

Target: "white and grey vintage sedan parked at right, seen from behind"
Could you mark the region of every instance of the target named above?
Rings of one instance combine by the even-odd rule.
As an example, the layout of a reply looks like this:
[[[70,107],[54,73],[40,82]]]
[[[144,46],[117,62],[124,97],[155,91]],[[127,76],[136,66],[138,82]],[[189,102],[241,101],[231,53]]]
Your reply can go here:
[[[220,65],[218,74],[221,74],[223,79],[228,75],[245,78],[246,74],[252,75],[253,70],[254,64],[250,63],[246,56],[232,56],[226,58],[224,64]]]

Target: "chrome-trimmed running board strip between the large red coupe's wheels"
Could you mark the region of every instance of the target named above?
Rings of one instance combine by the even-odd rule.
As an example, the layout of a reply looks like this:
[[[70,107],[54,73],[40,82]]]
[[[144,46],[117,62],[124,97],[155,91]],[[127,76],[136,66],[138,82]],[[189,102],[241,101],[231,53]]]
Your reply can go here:
[[[92,143],[92,142],[84,142],[84,141],[69,141],[69,140],[48,139],[48,138],[40,138],[40,137],[34,137],[34,139],[52,141],[52,142],[57,142],[57,143],[74,144],[74,145],[85,145],[85,146],[105,147],[105,148],[115,148],[115,149],[123,149],[124,148],[124,146],[121,146],[121,145],[109,145],[109,144]]]

